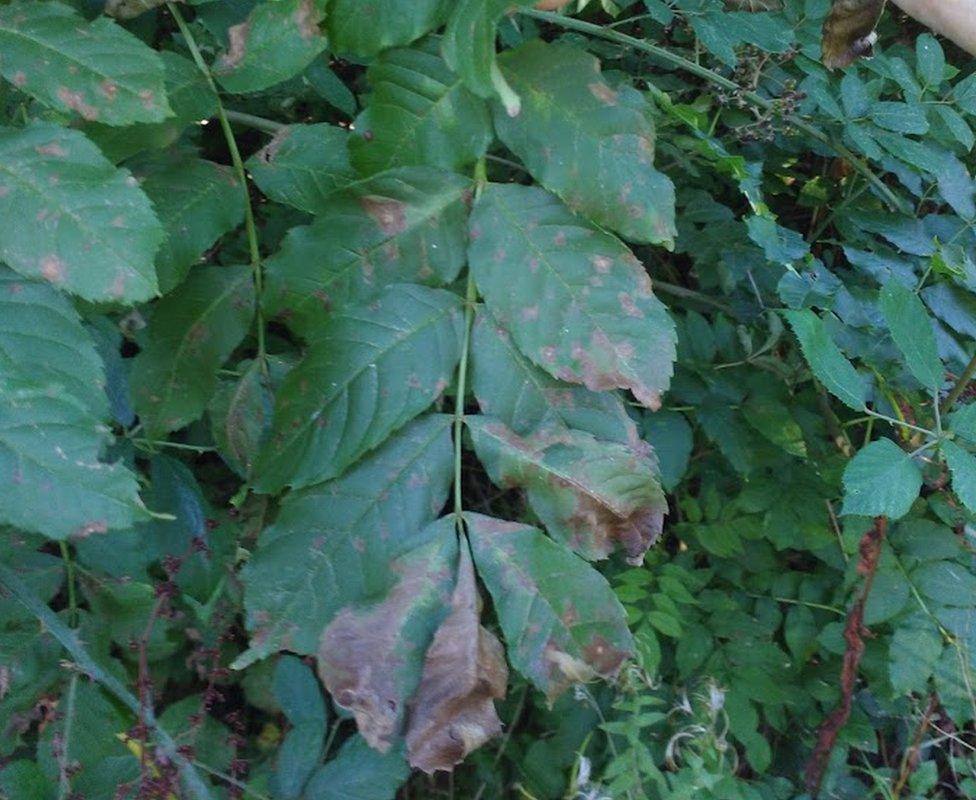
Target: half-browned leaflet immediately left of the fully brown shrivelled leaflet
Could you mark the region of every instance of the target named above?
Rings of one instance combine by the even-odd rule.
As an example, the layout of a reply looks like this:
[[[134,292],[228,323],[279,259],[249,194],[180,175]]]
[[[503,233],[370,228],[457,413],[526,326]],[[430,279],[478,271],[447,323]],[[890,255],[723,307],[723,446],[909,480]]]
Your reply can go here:
[[[421,680],[424,652],[447,613],[457,565],[454,519],[390,564],[386,597],[340,611],[322,633],[319,677],[336,704],[352,712],[359,733],[381,753],[400,734],[407,701]]]

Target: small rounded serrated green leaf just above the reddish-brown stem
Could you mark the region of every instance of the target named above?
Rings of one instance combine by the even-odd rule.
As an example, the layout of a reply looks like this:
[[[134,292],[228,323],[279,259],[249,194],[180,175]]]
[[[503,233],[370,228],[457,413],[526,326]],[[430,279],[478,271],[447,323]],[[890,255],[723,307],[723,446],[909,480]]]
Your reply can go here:
[[[891,439],[878,439],[862,448],[844,470],[843,513],[899,519],[921,488],[922,471],[911,455]]]

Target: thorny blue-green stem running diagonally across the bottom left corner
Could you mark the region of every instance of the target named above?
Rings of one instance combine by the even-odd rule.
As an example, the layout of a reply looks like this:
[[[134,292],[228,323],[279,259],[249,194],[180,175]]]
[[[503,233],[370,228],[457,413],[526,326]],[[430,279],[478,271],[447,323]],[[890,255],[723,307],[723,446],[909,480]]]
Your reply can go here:
[[[194,800],[213,800],[213,795],[207,784],[204,783],[200,773],[196,771],[193,764],[180,753],[173,741],[173,737],[160,727],[156,721],[155,712],[151,707],[140,707],[139,701],[122,682],[111,672],[104,669],[95,659],[89,655],[85,646],[81,643],[77,631],[65,625],[47,605],[35,595],[27,585],[17,576],[12,569],[0,564],[0,586],[3,586],[13,597],[26,608],[30,613],[37,617],[44,630],[57,639],[61,646],[71,655],[77,668],[85,675],[89,676],[96,683],[116,697],[126,708],[138,716],[142,714],[143,722],[153,731],[157,747],[160,751],[180,770],[184,784],[189,792],[189,797]]]

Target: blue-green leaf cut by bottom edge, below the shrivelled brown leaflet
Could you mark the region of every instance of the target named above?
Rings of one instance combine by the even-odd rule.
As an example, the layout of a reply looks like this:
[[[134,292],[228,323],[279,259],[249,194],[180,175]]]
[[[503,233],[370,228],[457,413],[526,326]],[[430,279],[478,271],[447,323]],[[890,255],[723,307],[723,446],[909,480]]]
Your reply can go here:
[[[403,753],[380,753],[362,736],[347,740],[305,787],[306,800],[394,800],[410,774]]]

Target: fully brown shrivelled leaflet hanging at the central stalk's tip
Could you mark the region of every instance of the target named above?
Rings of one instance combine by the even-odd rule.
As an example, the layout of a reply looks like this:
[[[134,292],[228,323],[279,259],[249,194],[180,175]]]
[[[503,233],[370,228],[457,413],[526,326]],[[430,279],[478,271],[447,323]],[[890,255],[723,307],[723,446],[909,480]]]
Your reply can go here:
[[[494,700],[505,697],[508,665],[501,642],[479,622],[481,598],[466,546],[461,547],[451,613],[424,661],[407,728],[410,765],[450,770],[501,733]]]

